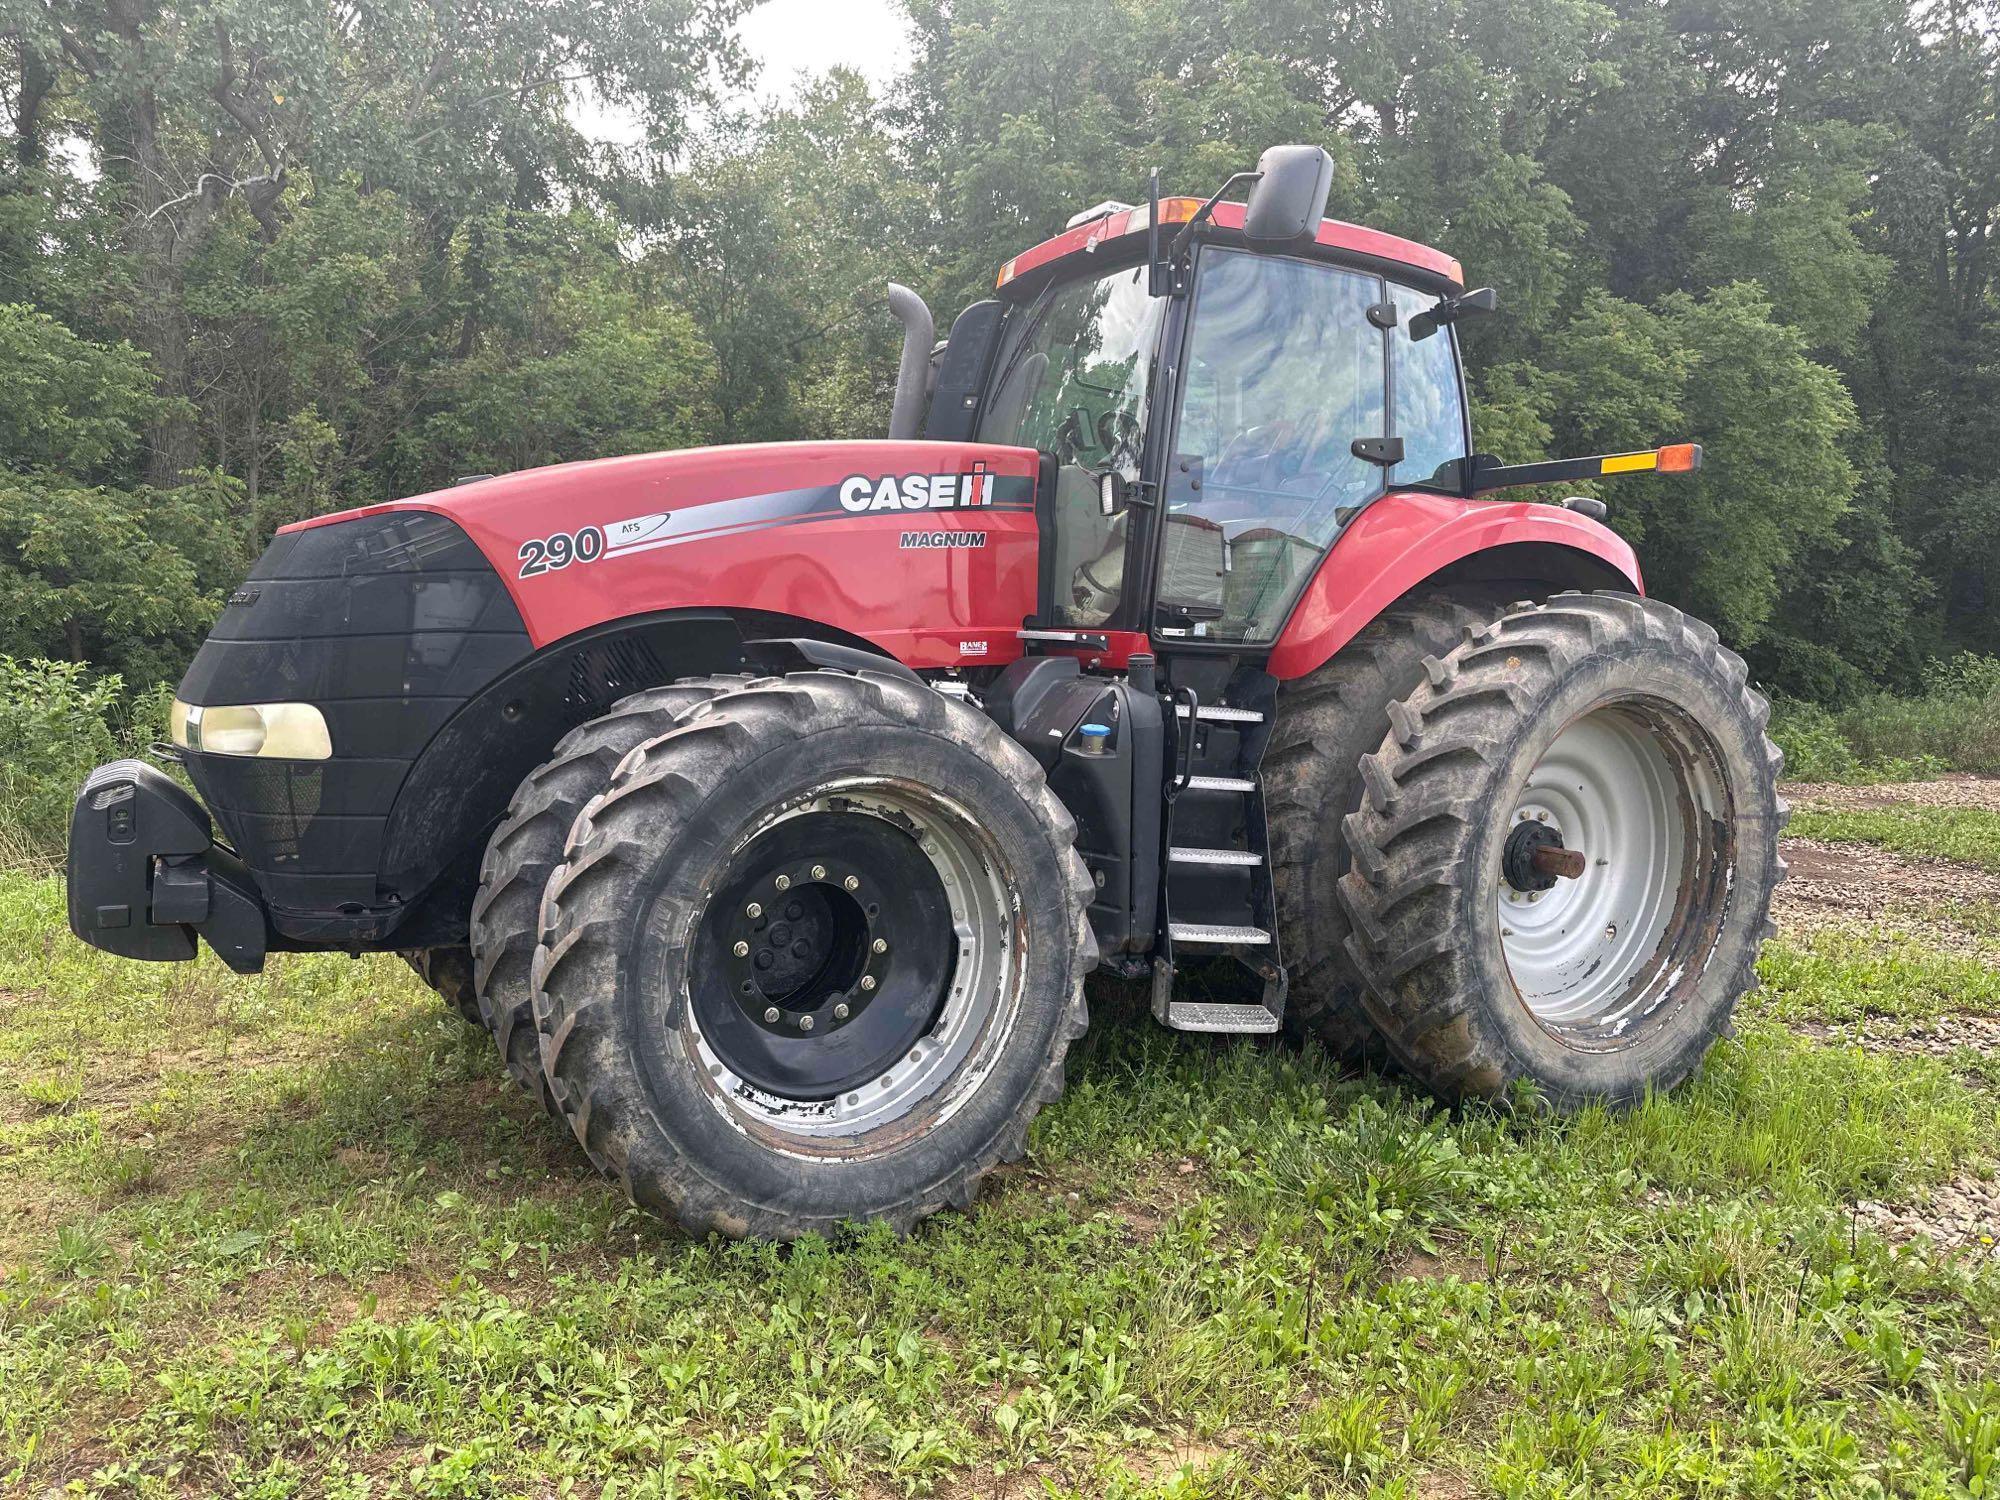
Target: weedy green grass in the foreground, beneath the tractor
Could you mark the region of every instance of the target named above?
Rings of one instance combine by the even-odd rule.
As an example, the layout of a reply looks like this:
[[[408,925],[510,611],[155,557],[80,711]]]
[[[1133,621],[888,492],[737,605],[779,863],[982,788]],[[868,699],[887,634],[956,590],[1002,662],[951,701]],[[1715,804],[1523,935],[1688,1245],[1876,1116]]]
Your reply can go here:
[[[2000,1478],[2000,1268],[1848,1208],[1988,1170],[1996,1096],[1790,1030],[1974,978],[1916,946],[1774,948],[1740,1038],[1616,1118],[1446,1116],[1104,996],[972,1214],[780,1250],[632,1212],[392,960],[120,964],[20,876],[0,944],[0,1490]]]

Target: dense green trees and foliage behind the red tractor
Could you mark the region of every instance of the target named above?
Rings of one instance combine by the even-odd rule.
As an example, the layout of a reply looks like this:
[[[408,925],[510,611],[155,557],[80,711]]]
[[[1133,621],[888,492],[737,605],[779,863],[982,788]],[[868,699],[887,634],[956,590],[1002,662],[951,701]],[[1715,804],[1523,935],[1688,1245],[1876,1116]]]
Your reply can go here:
[[[1850,704],[2000,652],[1976,8],[904,0],[880,96],[746,108],[746,4],[0,0],[0,650],[152,682],[276,524],[880,432],[886,280],[948,326],[1148,168],[1206,192],[1316,140],[1334,214],[1500,288],[1464,330],[1482,448],[1706,444],[1598,490],[1764,680]],[[642,146],[586,142],[586,98]]]

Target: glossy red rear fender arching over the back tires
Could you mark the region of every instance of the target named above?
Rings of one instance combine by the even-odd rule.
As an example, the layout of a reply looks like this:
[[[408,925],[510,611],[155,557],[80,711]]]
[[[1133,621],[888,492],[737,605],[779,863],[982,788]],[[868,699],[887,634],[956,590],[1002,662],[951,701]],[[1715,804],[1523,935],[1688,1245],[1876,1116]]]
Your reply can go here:
[[[1496,546],[1566,548],[1602,564],[1598,572],[1644,592],[1638,554],[1610,526],[1562,506],[1516,500],[1454,500],[1386,494],[1368,506],[1320,558],[1292,618],[1270,652],[1274,678],[1300,678],[1360,634],[1402,594],[1454,562]],[[1610,580],[1608,580],[1610,582]]]

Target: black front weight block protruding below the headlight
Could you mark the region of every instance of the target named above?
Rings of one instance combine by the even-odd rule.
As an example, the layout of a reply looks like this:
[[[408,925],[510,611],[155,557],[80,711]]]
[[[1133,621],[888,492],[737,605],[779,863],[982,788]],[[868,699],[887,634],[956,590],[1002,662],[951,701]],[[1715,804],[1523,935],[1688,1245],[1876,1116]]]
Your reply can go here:
[[[264,968],[270,924],[256,882],[166,772],[112,760],[70,812],[70,932],[122,958],[194,958],[196,938],[238,974]]]

